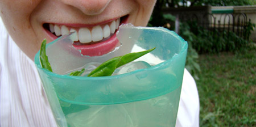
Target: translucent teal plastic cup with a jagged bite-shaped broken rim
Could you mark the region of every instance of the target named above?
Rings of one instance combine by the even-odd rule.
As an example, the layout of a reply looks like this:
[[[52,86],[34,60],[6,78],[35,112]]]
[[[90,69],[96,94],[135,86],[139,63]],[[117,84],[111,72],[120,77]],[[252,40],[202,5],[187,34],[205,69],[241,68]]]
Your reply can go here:
[[[156,47],[142,57],[154,66],[111,77],[71,77],[42,69],[36,54],[35,64],[57,125],[175,126],[187,42],[160,27],[127,25],[119,28],[117,37],[122,42],[118,50],[129,47],[125,41],[132,42],[133,51]]]

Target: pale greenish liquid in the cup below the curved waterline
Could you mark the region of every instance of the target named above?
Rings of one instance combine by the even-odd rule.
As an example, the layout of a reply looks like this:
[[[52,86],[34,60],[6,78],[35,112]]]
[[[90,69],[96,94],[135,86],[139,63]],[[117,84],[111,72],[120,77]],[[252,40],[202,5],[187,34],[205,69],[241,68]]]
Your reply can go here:
[[[175,126],[180,88],[147,100],[110,105],[78,105],[60,100],[68,126]]]

